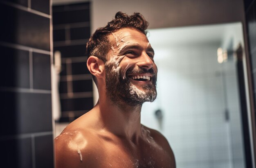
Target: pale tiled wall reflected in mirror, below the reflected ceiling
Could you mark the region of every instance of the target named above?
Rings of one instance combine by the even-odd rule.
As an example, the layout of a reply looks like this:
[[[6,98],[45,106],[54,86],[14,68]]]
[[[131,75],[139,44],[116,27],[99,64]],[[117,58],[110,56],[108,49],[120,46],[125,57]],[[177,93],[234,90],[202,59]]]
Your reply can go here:
[[[179,168],[230,166],[217,48],[200,44],[160,51],[154,46],[162,58],[155,55],[158,96],[154,103],[144,103],[141,122],[166,136]],[[155,117],[157,109],[162,120]]]

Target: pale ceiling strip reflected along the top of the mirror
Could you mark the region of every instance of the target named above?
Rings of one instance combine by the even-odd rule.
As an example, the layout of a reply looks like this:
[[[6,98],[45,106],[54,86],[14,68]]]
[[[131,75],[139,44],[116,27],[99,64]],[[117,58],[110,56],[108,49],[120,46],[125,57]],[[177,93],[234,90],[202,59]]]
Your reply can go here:
[[[164,41],[166,41],[166,45],[168,46],[205,43],[220,44],[225,34],[236,24],[237,23],[150,29],[148,38],[150,41],[154,41],[155,45],[157,43],[163,45]]]

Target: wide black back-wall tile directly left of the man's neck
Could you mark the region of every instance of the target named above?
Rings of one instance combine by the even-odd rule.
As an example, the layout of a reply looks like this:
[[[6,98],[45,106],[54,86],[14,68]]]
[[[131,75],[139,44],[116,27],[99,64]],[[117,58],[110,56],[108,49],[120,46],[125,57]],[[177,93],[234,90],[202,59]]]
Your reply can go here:
[[[61,99],[61,109],[65,109],[65,111],[88,110],[92,107],[92,98]]]

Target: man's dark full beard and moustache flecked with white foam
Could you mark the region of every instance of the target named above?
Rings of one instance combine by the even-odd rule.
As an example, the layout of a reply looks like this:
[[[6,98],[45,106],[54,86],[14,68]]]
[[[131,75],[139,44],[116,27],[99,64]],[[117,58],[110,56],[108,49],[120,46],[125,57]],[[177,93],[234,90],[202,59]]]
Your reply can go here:
[[[130,106],[142,105],[144,102],[153,102],[157,96],[156,91],[156,80],[157,74],[151,68],[150,70],[145,70],[144,68],[139,68],[138,70],[128,69],[126,72],[124,70],[116,71],[113,70],[114,65],[106,65],[106,94],[113,103],[126,104]],[[122,74],[125,73],[126,77]],[[142,89],[138,89],[130,81],[128,74],[142,74],[150,73],[153,76],[150,77],[151,84],[144,84]]]

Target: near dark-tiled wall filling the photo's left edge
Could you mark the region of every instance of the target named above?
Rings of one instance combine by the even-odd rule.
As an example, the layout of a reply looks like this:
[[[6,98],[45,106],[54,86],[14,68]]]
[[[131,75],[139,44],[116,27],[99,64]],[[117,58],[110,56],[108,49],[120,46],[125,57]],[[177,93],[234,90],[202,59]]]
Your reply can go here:
[[[0,161],[53,168],[51,1],[0,2]]]

